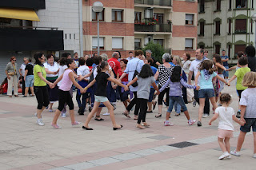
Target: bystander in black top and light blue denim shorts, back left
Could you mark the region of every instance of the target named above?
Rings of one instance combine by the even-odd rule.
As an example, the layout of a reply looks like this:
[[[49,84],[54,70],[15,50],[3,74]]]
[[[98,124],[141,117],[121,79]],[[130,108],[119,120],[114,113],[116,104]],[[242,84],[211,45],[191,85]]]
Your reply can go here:
[[[29,59],[27,61],[31,61],[31,60]],[[33,65],[31,62],[26,63],[23,81],[25,81],[25,85],[26,85],[26,89],[23,97],[26,97],[27,93],[29,92],[29,89],[32,94],[32,97],[34,97],[34,89],[33,89],[34,73],[33,73]]]

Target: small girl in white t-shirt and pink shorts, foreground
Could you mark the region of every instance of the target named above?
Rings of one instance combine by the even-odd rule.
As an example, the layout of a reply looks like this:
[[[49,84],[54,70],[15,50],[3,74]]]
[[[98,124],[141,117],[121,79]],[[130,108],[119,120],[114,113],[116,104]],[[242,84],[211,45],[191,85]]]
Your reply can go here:
[[[234,131],[232,120],[240,125],[244,125],[244,123],[234,116],[234,109],[229,107],[231,102],[230,94],[223,93],[220,97],[220,102],[222,106],[215,110],[214,117],[210,119],[209,125],[218,118],[218,144],[223,152],[218,159],[222,160],[226,157],[230,158],[230,137],[233,137]]]

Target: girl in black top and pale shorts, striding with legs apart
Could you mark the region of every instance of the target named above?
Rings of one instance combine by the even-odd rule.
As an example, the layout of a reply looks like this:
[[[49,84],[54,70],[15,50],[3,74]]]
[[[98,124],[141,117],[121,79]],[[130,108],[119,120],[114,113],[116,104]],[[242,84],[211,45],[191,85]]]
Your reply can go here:
[[[110,112],[110,119],[113,124],[113,130],[117,130],[119,128],[122,128],[122,125],[117,125],[114,120],[114,107],[110,104],[110,101],[106,97],[106,84],[107,81],[112,81],[115,84],[122,86],[125,90],[128,90],[128,87],[126,85],[122,85],[119,81],[117,81],[115,78],[110,77],[106,72],[109,70],[109,65],[107,61],[102,61],[100,65],[98,65],[97,68],[97,76],[94,78],[93,81],[90,82],[89,85],[86,86],[85,89],[90,88],[94,83],[97,81],[97,88],[95,91],[95,101],[94,101],[94,108],[89,113],[85,124],[82,126],[82,128],[86,130],[93,130],[93,128],[89,128],[88,124],[90,122],[90,119],[94,117],[94,114],[98,110],[98,106],[101,104],[101,102],[106,105],[107,109]]]

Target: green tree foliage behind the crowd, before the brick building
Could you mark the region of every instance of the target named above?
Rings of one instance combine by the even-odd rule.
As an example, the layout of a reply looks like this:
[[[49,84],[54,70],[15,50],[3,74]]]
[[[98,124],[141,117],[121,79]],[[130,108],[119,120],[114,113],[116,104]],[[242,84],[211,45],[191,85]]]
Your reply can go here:
[[[162,45],[155,44],[154,42],[149,42],[143,50],[145,53],[147,49],[150,49],[152,51],[152,57],[160,63],[162,63],[162,54],[165,53],[165,49],[162,48]]]

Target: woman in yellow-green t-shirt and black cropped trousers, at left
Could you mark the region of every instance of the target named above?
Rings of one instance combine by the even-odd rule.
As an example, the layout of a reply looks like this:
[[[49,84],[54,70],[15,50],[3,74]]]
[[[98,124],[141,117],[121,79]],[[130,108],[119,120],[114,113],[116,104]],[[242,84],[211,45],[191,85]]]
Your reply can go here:
[[[43,126],[45,124],[42,122],[41,113],[49,105],[49,94],[46,84],[51,89],[54,88],[54,84],[46,80],[46,69],[42,64],[46,61],[46,57],[43,53],[35,53],[34,59],[34,93],[38,101],[37,113],[35,115],[38,117],[38,125]]]

